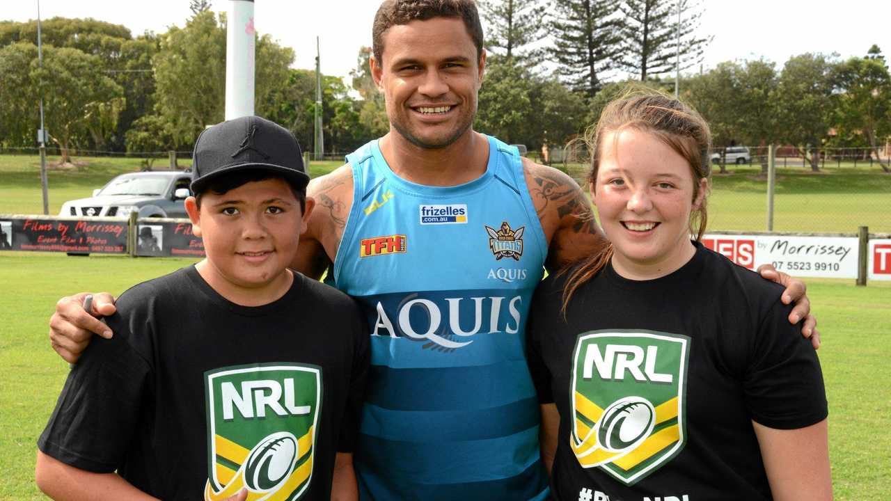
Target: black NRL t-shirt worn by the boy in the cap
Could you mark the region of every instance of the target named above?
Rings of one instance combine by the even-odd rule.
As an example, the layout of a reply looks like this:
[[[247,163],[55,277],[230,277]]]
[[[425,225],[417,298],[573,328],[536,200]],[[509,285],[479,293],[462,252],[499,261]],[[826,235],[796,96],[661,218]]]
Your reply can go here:
[[[118,311],[114,338],[71,370],[40,450],[162,499],[331,497],[369,363],[353,300],[294,274],[280,300],[241,307],[185,267],[125,292]]]

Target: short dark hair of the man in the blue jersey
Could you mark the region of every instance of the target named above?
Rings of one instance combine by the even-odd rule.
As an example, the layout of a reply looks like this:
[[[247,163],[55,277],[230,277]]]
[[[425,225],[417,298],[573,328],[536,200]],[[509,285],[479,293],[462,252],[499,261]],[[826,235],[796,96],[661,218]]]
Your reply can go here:
[[[477,61],[483,56],[483,26],[479,22],[477,4],[473,0],[385,0],[374,14],[372,49],[374,59],[383,63],[384,33],[397,24],[446,17],[461,18],[477,46]]]

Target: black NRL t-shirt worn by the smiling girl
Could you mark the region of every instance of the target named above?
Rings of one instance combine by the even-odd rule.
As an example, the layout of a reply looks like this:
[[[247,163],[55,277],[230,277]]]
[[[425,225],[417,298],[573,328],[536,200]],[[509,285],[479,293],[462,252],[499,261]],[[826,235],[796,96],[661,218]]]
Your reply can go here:
[[[696,246],[656,280],[604,268],[565,319],[568,274],[536,292],[527,357],[540,401],[560,412],[554,498],[771,499],[751,421],[826,417],[820,363],[782,287]]]

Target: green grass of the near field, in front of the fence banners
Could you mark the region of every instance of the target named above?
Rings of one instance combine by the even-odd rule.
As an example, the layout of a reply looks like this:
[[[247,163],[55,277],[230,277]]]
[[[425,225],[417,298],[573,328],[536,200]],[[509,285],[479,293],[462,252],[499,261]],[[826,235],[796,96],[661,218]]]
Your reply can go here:
[[[39,498],[33,485],[35,442],[53,411],[68,365],[46,338],[62,295],[133,283],[185,266],[187,259],[130,259],[7,252],[0,254],[0,499]],[[64,270],[64,271],[62,271]],[[891,490],[891,283],[808,280],[820,319],[819,354],[830,401],[830,457],[836,498],[883,500]]]

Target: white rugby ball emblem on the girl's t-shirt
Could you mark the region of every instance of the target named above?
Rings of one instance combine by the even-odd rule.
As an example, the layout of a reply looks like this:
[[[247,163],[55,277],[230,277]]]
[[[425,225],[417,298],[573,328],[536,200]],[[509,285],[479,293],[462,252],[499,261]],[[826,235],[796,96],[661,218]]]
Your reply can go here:
[[[656,409],[642,397],[619,398],[597,422],[597,443],[609,452],[632,451],[650,436],[656,425]]]

